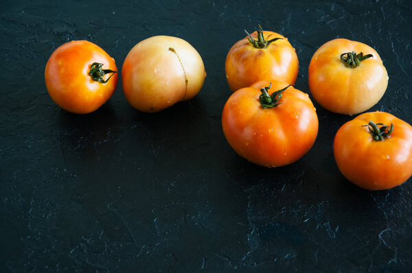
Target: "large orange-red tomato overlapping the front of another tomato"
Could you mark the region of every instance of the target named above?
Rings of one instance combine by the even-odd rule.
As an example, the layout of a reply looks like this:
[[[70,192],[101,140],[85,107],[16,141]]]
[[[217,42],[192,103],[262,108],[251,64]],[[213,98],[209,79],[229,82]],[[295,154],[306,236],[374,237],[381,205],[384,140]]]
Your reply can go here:
[[[279,167],[310,150],[318,119],[308,94],[271,80],[233,93],[223,108],[222,127],[240,156],[258,165]]]

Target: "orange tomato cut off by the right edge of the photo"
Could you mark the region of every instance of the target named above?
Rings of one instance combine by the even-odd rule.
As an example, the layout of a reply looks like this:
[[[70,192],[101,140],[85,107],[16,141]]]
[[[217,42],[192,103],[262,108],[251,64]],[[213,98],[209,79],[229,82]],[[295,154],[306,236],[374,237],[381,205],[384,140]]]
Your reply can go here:
[[[396,187],[412,175],[412,127],[387,112],[343,124],[333,150],[343,176],[364,189]]]

